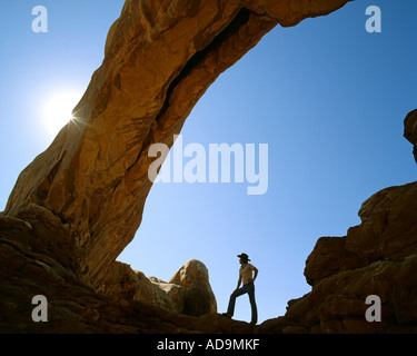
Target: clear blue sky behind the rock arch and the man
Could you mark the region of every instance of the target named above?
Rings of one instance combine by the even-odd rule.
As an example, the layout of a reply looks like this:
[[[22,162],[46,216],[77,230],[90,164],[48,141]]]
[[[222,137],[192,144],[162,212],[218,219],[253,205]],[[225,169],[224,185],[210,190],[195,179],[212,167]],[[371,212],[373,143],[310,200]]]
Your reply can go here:
[[[19,172],[54,134],[53,95],[86,90],[100,66],[121,0],[42,0],[48,33],[31,30],[33,1],[7,1],[0,30],[0,210]],[[368,6],[381,33],[368,33]],[[374,192],[416,180],[403,121],[417,95],[417,3],[357,0],[328,17],[276,27],[207,90],[186,121],[183,145],[268,144],[269,186],[158,184],[119,260],[168,280],[190,258],[206,264],[225,312],[247,253],[259,269],[259,322],[310,290],[302,270],[321,236],[345,236]],[[73,106],[77,102],[73,103]],[[246,296],[236,319],[250,320]]]

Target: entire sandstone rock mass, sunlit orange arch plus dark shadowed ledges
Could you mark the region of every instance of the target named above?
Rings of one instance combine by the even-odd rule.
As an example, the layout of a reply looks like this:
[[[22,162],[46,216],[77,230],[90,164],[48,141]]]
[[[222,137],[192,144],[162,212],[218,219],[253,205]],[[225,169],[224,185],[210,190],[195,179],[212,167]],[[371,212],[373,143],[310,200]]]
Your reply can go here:
[[[149,146],[171,147],[207,88],[275,26],[346,2],[127,0],[76,119],[0,214],[0,332],[416,333],[417,182],[370,197],[346,237],[320,238],[306,263],[311,291],[259,326],[216,314],[202,263],[165,283],[116,260],[152,185]],[[416,152],[416,110],[405,137]],[[34,295],[48,298],[48,323],[31,318]],[[368,295],[381,299],[381,323],[365,320]]]

